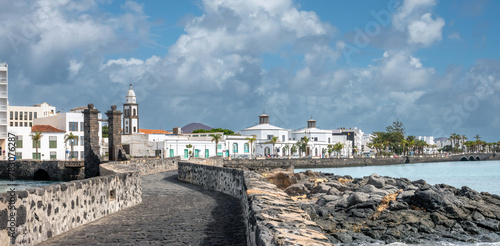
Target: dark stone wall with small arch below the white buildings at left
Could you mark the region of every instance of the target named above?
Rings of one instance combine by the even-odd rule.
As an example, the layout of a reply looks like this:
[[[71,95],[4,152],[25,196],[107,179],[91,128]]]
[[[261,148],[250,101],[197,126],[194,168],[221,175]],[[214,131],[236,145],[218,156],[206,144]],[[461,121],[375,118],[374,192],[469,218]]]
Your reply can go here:
[[[9,161],[0,161],[0,179],[9,178]],[[52,181],[70,181],[85,178],[83,161],[14,161],[15,179],[33,179],[38,170],[44,170]],[[72,167],[67,167],[72,166]]]

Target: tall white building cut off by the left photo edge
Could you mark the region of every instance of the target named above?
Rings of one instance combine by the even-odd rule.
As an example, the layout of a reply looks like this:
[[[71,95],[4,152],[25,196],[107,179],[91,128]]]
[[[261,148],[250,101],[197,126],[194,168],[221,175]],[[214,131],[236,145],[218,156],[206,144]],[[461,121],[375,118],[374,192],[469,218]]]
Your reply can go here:
[[[0,159],[7,159],[7,105],[9,102],[9,71],[6,63],[0,63]]]

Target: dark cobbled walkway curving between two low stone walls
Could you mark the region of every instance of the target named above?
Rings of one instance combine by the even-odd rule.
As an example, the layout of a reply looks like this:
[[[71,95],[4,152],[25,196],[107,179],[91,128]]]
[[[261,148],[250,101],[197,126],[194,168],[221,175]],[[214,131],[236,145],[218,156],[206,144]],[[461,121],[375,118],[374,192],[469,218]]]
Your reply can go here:
[[[141,204],[39,245],[246,245],[237,199],[177,180],[177,170],[142,177]]]

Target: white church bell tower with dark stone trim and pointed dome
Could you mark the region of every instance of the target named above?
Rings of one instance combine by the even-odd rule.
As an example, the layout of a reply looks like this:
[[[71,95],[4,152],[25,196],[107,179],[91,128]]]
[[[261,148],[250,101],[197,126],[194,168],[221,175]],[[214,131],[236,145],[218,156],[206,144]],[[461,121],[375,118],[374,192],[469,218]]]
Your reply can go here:
[[[139,104],[137,104],[135,92],[132,90],[132,84],[130,84],[127,96],[125,97],[125,103],[123,104],[123,134],[130,135],[138,132]]]

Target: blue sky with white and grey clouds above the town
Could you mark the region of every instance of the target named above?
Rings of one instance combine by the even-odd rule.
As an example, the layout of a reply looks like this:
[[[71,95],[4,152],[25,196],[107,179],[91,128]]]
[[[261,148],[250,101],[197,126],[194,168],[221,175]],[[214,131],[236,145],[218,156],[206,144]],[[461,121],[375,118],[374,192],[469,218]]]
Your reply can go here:
[[[500,140],[500,1],[0,0],[9,103],[141,128],[258,122]]]

